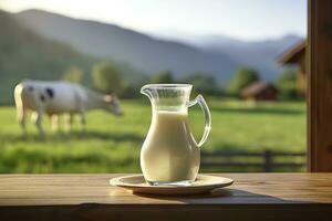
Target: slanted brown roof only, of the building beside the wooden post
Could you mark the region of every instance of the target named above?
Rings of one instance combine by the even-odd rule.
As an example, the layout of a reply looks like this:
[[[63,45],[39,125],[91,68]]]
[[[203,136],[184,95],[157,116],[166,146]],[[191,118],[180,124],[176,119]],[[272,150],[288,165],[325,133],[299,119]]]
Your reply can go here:
[[[289,50],[287,50],[283,54],[277,57],[278,64],[295,64],[300,60],[301,56],[304,55],[307,48],[307,40],[303,40]]]

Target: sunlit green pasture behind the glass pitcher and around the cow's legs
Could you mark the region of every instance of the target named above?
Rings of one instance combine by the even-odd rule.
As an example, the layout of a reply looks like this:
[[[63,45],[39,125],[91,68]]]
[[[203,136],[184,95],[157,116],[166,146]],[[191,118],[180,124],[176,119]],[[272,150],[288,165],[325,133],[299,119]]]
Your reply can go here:
[[[206,151],[305,150],[304,103],[263,103],[207,99],[212,130]],[[147,99],[122,101],[125,115],[87,114],[86,133],[75,123],[72,133],[54,133],[44,118],[45,138],[29,122],[23,136],[12,106],[0,107],[0,172],[138,172],[141,145],[149,127]],[[203,131],[198,107],[189,113],[197,139]]]

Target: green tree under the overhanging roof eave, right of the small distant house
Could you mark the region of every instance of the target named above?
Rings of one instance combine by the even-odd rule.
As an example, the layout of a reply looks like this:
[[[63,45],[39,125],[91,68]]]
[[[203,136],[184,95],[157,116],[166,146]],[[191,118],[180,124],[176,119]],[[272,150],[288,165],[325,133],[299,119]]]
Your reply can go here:
[[[298,99],[299,93],[297,87],[298,75],[292,69],[286,69],[277,80],[277,88],[282,99]]]

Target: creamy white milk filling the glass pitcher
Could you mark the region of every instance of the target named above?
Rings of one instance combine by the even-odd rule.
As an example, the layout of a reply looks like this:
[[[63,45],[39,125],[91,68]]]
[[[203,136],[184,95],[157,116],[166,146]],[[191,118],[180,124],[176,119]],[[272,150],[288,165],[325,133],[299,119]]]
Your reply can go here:
[[[187,112],[155,112],[141,151],[147,181],[195,180],[199,161],[200,150],[189,131]]]

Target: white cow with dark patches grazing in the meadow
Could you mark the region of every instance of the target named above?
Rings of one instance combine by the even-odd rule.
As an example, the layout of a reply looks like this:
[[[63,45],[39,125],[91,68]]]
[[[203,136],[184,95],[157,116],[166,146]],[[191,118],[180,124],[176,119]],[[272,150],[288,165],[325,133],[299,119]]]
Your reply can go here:
[[[85,113],[104,109],[115,115],[123,110],[115,95],[102,95],[75,83],[62,81],[23,81],[14,88],[18,120],[25,133],[27,110],[32,110],[32,120],[43,135],[42,117],[48,114],[52,127],[59,127],[59,115],[65,114],[71,129],[73,115],[79,114],[82,128],[85,128]]]

